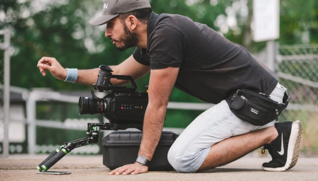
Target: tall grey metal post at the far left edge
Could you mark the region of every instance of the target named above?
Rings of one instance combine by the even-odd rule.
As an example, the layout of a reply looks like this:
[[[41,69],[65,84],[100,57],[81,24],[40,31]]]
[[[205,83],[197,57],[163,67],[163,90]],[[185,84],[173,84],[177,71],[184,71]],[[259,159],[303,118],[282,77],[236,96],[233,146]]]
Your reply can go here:
[[[10,30],[4,33],[4,86],[3,86],[3,115],[4,115],[4,139],[3,157],[9,157],[9,119],[10,119]]]

